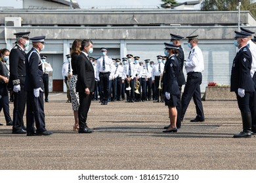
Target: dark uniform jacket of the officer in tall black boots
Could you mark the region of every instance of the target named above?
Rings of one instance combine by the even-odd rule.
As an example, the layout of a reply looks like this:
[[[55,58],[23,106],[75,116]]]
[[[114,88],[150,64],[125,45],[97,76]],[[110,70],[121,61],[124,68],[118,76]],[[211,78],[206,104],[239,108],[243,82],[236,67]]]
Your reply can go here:
[[[250,74],[251,61],[251,52],[247,46],[244,46],[233,61],[230,79],[231,92],[237,92],[238,88],[244,89],[245,92],[255,92],[255,84]]]

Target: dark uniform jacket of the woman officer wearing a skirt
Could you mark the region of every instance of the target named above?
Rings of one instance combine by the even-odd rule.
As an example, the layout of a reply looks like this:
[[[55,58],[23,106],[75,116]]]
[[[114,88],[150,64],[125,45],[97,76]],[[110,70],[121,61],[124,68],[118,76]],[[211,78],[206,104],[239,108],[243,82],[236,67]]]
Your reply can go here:
[[[163,93],[168,92],[171,95],[179,95],[179,85],[177,77],[179,75],[179,61],[175,55],[167,57],[163,71]]]

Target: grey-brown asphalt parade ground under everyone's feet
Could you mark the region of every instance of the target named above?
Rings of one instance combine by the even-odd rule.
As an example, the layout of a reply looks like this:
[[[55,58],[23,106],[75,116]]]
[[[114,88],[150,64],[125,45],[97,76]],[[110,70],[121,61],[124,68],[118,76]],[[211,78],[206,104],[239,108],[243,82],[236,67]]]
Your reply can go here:
[[[13,104],[10,103],[12,116]],[[50,136],[12,134],[0,126],[1,170],[253,170],[256,138],[233,139],[242,130],[236,101],[203,101],[205,122],[192,123],[191,101],[178,133],[162,133],[169,124],[164,103],[152,101],[91,104],[87,123],[95,131],[73,131],[66,93],[50,93],[45,123]],[[24,116],[26,122],[26,115]],[[0,122],[5,124],[3,112]]]

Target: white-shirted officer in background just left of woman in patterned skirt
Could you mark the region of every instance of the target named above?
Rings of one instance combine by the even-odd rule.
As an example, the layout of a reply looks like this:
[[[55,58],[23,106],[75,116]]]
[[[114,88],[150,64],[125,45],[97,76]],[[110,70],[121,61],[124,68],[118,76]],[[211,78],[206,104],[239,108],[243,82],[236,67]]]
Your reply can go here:
[[[71,103],[70,99],[70,78],[72,77],[72,65],[71,65],[71,56],[70,54],[66,55],[67,61],[65,61],[62,65],[62,77],[67,87],[67,97],[68,101],[67,103]]]

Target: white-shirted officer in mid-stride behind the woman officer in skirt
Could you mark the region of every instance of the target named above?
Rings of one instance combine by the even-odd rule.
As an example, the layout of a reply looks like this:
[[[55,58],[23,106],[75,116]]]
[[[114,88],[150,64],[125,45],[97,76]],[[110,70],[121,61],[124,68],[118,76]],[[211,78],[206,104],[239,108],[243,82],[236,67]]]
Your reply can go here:
[[[186,37],[188,39],[188,47],[191,48],[188,59],[184,62],[184,66],[187,73],[186,85],[182,94],[182,112],[181,119],[184,118],[186,109],[193,97],[196,105],[196,118],[190,120],[190,122],[203,122],[203,105],[201,101],[200,84],[202,83],[202,72],[204,70],[203,54],[198,47],[198,35]]]

